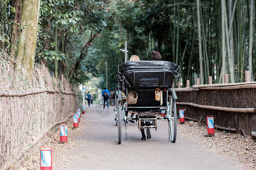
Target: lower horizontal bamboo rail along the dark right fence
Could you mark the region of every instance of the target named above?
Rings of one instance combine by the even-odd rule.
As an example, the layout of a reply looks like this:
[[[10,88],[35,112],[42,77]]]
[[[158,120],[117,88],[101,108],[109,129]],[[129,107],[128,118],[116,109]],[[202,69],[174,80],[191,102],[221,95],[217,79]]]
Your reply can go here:
[[[213,107],[210,105],[200,105],[195,103],[176,102],[177,105],[189,105],[196,108],[212,109],[216,111],[225,112],[239,112],[239,113],[256,113],[256,108],[226,108],[226,107]]]

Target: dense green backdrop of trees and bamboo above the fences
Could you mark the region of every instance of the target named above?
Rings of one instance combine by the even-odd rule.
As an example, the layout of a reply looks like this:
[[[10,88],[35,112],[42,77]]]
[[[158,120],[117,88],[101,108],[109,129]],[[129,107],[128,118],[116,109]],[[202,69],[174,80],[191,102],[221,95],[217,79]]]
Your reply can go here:
[[[1,1],[0,45],[10,54],[14,11],[10,1]],[[149,60],[158,50],[163,60],[179,64],[176,82],[183,85],[188,79],[195,84],[196,78],[208,83],[208,76],[221,83],[224,74],[232,83],[243,82],[246,70],[255,80],[254,0],[51,0],[41,1],[39,13],[35,62],[76,83],[98,76],[98,86],[104,87],[108,61],[113,90],[125,41],[128,57]]]

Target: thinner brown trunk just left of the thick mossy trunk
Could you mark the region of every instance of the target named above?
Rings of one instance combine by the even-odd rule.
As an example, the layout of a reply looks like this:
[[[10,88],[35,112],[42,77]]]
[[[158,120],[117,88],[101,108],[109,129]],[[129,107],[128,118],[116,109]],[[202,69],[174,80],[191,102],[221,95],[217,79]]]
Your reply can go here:
[[[11,59],[15,59],[15,54],[17,50],[18,42],[16,41],[19,36],[19,25],[20,25],[20,15],[22,13],[22,0],[14,1],[14,8],[16,9],[16,14],[14,18],[13,32],[11,34]]]

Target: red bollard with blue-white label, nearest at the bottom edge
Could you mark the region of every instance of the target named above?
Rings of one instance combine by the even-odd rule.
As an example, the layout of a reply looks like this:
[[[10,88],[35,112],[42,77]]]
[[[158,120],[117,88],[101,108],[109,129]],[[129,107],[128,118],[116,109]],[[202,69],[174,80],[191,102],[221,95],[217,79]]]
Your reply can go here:
[[[40,169],[52,170],[52,147],[51,146],[40,147]]]

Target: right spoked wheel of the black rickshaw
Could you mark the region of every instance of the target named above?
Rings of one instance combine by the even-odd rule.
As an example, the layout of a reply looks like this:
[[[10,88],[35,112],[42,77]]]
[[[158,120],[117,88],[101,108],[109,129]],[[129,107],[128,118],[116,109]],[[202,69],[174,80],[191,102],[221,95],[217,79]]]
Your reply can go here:
[[[168,119],[169,139],[171,139],[172,143],[175,143],[176,135],[177,135],[177,111],[176,111],[176,101],[173,97],[171,97],[170,107],[171,107],[170,109],[171,118]]]

